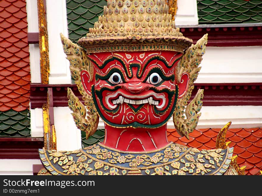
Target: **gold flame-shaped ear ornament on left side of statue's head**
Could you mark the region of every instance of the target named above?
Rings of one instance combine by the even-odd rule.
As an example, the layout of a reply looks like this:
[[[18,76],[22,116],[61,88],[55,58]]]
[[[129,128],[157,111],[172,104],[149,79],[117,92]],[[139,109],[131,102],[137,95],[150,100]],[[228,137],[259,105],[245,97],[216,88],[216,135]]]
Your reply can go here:
[[[75,79],[78,90],[82,95],[84,104],[74,95],[72,90],[68,88],[68,106],[73,113],[74,122],[78,129],[86,133],[86,139],[96,132],[99,116],[93,104],[92,97],[88,95],[82,85],[81,77],[79,76],[81,70],[88,71],[89,75],[93,76],[93,64],[87,58],[86,52],[82,47],[74,44],[68,38],[60,33],[61,41],[63,44],[64,53],[70,62],[70,71],[72,77]],[[91,78],[92,80],[93,78]]]

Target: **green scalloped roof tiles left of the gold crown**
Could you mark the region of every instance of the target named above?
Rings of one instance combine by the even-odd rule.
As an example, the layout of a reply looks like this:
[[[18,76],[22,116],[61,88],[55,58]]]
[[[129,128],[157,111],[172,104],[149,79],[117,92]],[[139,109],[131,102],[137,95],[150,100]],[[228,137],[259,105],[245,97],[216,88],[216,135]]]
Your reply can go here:
[[[102,15],[105,5],[105,0],[66,0],[68,36],[71,41],[77,43],[89,32],[98,16]]]

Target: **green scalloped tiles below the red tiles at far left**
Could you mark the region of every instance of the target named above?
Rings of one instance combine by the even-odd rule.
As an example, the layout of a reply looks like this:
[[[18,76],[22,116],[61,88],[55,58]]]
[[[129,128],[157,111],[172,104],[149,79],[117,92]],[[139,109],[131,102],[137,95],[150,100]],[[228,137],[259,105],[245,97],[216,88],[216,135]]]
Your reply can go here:
[[[30,113],[26,109],[0,112],[0,137],[30,137]]]

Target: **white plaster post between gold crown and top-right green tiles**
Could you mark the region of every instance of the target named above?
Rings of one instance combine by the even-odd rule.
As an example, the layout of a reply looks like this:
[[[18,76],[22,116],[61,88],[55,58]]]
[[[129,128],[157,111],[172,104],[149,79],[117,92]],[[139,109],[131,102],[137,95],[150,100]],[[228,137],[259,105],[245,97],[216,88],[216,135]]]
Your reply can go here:
[[[177,0],[176,26],[197,25],[197,0]]]

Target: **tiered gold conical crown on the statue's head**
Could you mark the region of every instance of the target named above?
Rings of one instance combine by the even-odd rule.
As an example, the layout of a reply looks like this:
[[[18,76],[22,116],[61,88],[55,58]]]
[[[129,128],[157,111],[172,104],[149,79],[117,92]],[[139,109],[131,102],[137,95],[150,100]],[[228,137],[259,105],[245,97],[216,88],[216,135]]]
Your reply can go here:
[[[108,0],[104,15],[78,43],[88,53],[173,50],[183,52],[192,40],[175,27],[164,0]]]

